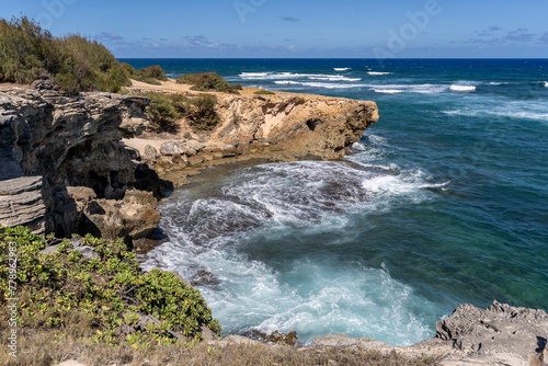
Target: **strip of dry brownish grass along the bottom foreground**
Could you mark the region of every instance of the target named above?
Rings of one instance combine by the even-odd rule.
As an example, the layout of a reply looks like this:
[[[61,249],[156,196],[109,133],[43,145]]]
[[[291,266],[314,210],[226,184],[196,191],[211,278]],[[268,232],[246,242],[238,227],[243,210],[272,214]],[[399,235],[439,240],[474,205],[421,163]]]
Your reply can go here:
[[[361,347],[305,347],[229,344],[225,346],[198,344],[158,345],[135,348],[128,345],[103,344],[84,341],[78,324],[64,330],[27,332],[20,345],[24,353],[16,363],[0,351],[0,364],[7,366],[42,366],[77,359],[88,366],[434,366],[442,357],[406,357],[392,352],[383,354]]]

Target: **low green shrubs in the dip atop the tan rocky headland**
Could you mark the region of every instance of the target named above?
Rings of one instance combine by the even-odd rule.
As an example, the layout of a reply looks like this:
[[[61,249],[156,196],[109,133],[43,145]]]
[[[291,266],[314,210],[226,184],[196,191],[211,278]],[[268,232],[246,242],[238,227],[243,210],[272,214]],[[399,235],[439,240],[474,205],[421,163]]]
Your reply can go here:
[[[182,94],[164,94],[148,92],[142,94],[150,99],[146,113],[155,124],[157,130],[173,131],[176,121],[186,118],[195,130],[212,130],[219,123],[219,115],[215,110],[215,95],[199,95],[187,98]]]

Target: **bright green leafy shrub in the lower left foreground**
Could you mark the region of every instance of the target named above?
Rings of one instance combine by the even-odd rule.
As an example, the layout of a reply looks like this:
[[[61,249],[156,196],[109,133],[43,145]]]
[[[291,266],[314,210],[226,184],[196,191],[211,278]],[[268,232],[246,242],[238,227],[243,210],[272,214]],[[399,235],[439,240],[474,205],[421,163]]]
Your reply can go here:
[[[84,319],[85,338],[137,346],[174,343],[176,335],[199,340],[203,325],[220,333],[199,291],[176,275],[160,270],[142,273],[135,253],[122,241],[90,236],[79,240],[98,258],[85,259],[68,239],[44,254],[42,237],[23,227],[0,227],[0,332],[7,330],[11,316],[7,305],[15,295],[23,329],[59,329],[70,319]],[[18,259],[16,294],[9,282],[10,249]],[[147,316],[153,321],[138,327]]]

